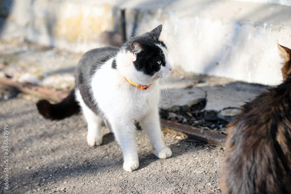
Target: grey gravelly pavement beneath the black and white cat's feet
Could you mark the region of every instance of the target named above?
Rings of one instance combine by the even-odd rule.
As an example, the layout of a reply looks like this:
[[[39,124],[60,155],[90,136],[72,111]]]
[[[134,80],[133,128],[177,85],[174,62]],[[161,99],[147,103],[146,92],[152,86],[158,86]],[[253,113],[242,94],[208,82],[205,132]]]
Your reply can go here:
[[[88,147],[82,115],[45,120],[36,100],[20,94],[0,101],[1,128],[9,125],[10,156],[9,190],[3,186],[1,162],[0,193],[221,193],[222,149],[163,132],[173,155],[158,159],[137,130],[140,167],[126,172],[120,146],[108,129],[102,145]],[[0,135],[3,159],[4,130]]]

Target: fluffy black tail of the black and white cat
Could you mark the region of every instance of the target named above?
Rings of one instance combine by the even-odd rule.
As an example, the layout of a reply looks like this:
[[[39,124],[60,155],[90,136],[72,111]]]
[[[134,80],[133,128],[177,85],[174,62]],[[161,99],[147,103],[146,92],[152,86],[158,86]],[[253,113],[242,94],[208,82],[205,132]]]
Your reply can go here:
[[[74,89],[68,97],[57,104],[51,104],[47,100],[40,100],[36,103],[38,112],[46,119],[61,120],[80,112],[81,107],[75,99]]]

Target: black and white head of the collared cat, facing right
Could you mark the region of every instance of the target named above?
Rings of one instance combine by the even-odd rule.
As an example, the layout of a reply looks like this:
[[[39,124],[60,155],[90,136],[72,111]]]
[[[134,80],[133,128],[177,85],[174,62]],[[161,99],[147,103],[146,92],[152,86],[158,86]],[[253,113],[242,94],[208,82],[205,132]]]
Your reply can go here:
[[[123,44],[116,56],[116,68],[122,76],[135,83],[149,85],[171,72],[168,48],[159,40],[161,31],[162,24]]]

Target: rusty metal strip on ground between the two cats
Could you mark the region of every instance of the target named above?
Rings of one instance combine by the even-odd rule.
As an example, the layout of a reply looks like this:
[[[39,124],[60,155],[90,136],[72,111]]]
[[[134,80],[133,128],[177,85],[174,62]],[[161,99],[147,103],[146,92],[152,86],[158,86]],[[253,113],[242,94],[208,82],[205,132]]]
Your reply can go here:
[[[190,138],[198,139],[201,141],[205,141],[207,143],[225,147],[226,135],[213,133],[211,131],[199,129],[197,127],[192,127],[190,125],[181,124],[165,119],[161,119],[161,125],[163,127],[167,127],[185,133]]]

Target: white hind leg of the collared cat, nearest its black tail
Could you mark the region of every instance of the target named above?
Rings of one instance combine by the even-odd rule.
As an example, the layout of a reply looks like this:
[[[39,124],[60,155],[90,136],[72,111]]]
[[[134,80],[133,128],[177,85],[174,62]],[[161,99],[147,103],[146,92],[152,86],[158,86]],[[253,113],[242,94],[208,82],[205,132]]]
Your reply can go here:
[[[83,101],[79,90],[75,91],[77,100],[83,110],[88,123],[87,144],[89,146],[100,145],[102,143],[101,124],[103,118],[96,115]]]

